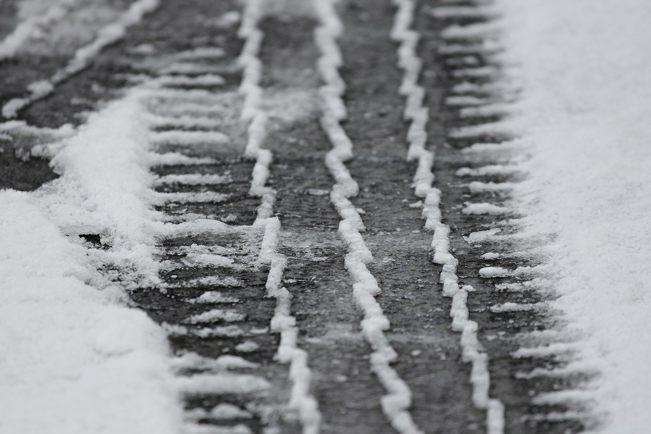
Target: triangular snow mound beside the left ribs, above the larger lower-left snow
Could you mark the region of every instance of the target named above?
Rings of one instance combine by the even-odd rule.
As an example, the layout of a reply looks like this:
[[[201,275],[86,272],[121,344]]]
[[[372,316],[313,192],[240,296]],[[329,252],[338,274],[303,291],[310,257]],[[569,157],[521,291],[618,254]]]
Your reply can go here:
[[[133,270],[141,284],[158,280],[152,259],[158,213],[150,207],[156,194],[142,97],[134,91],[92,115],[52,159],[62,177],[35,192],[52,222],[68,233],[100,235],[111,250],[96,255]]]

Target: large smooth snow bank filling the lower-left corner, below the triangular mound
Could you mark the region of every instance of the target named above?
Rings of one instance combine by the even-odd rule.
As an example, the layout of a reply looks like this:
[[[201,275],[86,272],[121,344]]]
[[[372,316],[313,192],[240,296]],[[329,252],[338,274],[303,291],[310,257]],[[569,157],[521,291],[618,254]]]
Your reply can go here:
[[[85,283],[86,249],[31,194],[0,192],[0,245],[0,432],[178,432],[165,334]]]

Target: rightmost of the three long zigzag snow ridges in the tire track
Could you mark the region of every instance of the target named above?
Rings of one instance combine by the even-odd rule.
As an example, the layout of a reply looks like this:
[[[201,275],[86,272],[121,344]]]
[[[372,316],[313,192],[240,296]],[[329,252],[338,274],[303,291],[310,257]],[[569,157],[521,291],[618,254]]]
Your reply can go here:
[[[419,34],[410,29],[413,21],[415,1],[393,0],[398,7],[391,38],[400,42],[398,48],[398,66],[404,71],[400,93],[406,96],[405,117],[411,121],[407,140],[409,142],[408,160],[417,160],[419,165],[413,180],[415,194],[425,198],[422,218],[426,228],[434,231],[432,247],[434,262],[443,265],[440,282],[443,294],[452,297],[452,328],[461,332],[463,360],[472,364],[471,383],[473,384],[473,404],[478,409],[486,409],[486,426],[490,434],[504,432],[504,405],[499,399],[492,399],[488,393],[490,373],[488,356],[483,353],[477,339],[477,323],[468,319],[467,294],[473,287],[459,287],[456,276],[457,259],[450,253],[450,228],[441,222],[439,201],[441,192],[432,186],[434,173],[434,152],[425,149],[427,109],[422,106],[424,89],[418,85],[421,59],[417,56],[416,46]],[[441,10],[440,8],[438,8]],[[457,12],[458,9],[456,8]],[[449,10],[449,9],[448,9]]]

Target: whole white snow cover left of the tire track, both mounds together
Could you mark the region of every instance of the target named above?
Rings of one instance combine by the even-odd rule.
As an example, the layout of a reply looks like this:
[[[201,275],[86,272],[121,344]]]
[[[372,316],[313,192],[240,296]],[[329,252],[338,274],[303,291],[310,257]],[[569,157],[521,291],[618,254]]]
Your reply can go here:
[[[155,276],[147,143],[132,94],[65,141],[61,178],[0,192],[0,432],[180,431],[165,333],[96,271]]]

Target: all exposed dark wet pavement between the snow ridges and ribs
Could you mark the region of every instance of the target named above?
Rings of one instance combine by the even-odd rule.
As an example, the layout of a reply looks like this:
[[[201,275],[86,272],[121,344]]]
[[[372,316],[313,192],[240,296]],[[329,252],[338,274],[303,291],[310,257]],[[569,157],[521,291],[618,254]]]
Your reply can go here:
[[[397,47],[388,37],[395,13],[390,3],[350,0],[342,1],[339,7],[346,28],[339,40],[345,63],[340,73],[348,85],[344,100],[349,110],[349,119],[343,126],[355,145],[355,159],[347,166],[360,187],[359,195],[352,202],[364,211],[362,218],[367,231],[363,238],[376,259],[369,269],[380,283],[382,293],[378,302],[391,321],[387,336],[399,355],[394,367],[413,392],[411,414],[415,422],[426,433],[479,433],[486,429],[486,415],[472,405],[470,366],[460,360],[460,334],[450,329],[450,299],[441,294],[440,267],[431,259],[432,234],[422,228],[421,209],[409,206],[419,198],[411,188],[415,165],[405,158],[409,125],[402,119],[404,98],[398,94],[402,71],[396,66]],[[13,4],[0,5],[0,38],[15,25],[11,18],[15,14]],[[434,0],[425,1],[417,11],[434,5]],[[156,12],[130,28],[123,40],[104,50],[89,68],[62,83],[48,98],[25,109],[18,119],[48,128],[81,124],[85,112],[124,92],[129,86],[124,74],[144,72],[156,76],[161,65],[169,64],[165,59],[170,55],[199,46],[225,50],[225,57],[211,65],[227,79],[227,84],[212,91],[232,102],[232,112],[237,117],[241,100],[240,96],[232,95],[237,95],[241,77],[232,66],[242,41],[236,36],[236,26],[215,23],[225,12],[240,8],[234,0],[163,1]],[[452,228],[452,250],[460,264],[458,275],[462,283],[476,289],[468,303],[471,319],[480,325],[480,342],[490,360],[490,394],[506,405],[508,433],[581,431],[583,427],[575,421],[527,419],[531,414],[563,411],[562,407],[533,405],[532,398],[540,392],[564,388],[574,379],[516,378],[518,372],[557,366],[555,360],[510,356],[519,347],[519,333],[553,326],[553,315],[543,310],[492,313],[488,307],[503,302],[540,302],[549,295],[534,290],[497,291],[494,284],[506,282],[505,278],[478,277],[479,268],[487,265],[515,268],[534,264],[520,259],[481,259],[483,253],[508,252],[514,247],[471,245],[463,239],[464,235],[495,227],[503,220],[501,216],[462,214],[464,203],[499,204],[508,197],[471,195],[462,184],[464,180],[454,175],[456,169],[469,165],[460,149],[471,143],[454,141],[448,136],[450,129],[467,124],[458,117],[456,109],[443,104],[451,86],[458,83],[451,73],[459,62],[454,61],[454,56],[437,54],[437,47],[442,44],[439,33],[451,22],[434,20],[421,12],[417,13],[415,28],[422,35],[419,55],[424,60],[421,83],[426,87],[426,104],[430,109],[428,147],[436,151],[435,185],[443,192],[443,221]],[[380,407],[384,390],[369,369],[371,350],[359,330],[362,317],[353,301],[352,282],[343,264],[346,249],[337,234],[339,216],[329,203],[328,192],[333,180],[324,165],[330,144],[318,124],[316,90],[320,81],[316,59],[319,53],[312,41],[315,25],[314,18],[301,10],[286,16],[270,16],[260,22],[265,34],[259,55],[264,65],[261,85],[265,91],[265,109],[271,115],[264,146],[274,154],[268,184],[277,190],[275,215],[283,225],[279,250],[288,258],[284,285],[293,295],[292,314],[300,330],[298,345],[309,353],[312,394],[323,414],[322,432],[392,433]],[[135,53],[134,49],[142,44],[150,44],[153,53]],[[481,55],[475,57],[477,65],[489,61]],[[0,104],[21,96],[27,83],[50,76],[64,63],[65,59],[56,56],[18,57],[1,62]],[[158,110],[164,113],[165,107]],[[228,149],[184,151],[192,156],[211,156],[217,160],[216,164],[152,168],[158,175],[230,173],[232,177],[232,182],[216,186],[159,188],[163,192],[229,194],[219,203],[160,207],[170,218],[182,219],[184,214],[192,212],[232,225],[251,225],[255,220],[260,199],[248,194],[253,162],[241,157],[245,145],[243,125],[225,119],[221,131],[232,138]],[[481,141],[491,140],[495,138],[482,137]],[[23,162],[14,157],[11,143],[0,139],[0,145],[4,150],[0,153],[0,188],[35,190],[57,176],[45,160]],[[161,240],[161,260],[180,263],[185,255],[180,249],[199,244],[222,248],[236,263],[248,265],[241,269],[180,265],[161,273],[163,282],[173,288],[166,291],[141,288],[130,295],[155,321],[177,325],[189,315],[214,307],[189,303],[188,298],[198,297],[205,291],[219,291],[238,298],[238,302],[219,304],[219,307],[245,315],[243,321],[232,323],[245,330],[243,336],[171,336],[171,346],[177,354],[193,351],[210,358],[234,354],[256,362],[260,368],[251,372],[270,381],[271,391],[260,396],[190,397],[186,406],[210,409],[217,403],[233,403],[249,409],[255,416],[230,424],[244,423],[253,432],[277,427],[278,432],[294,433],[300,431],[296,417],[283,409],[290,388],[287,367],[274,358],[279,336],[264,331],[270,326],[275,307],[275,300],[265,297],[268,269],[251,265],[255,263],[260,238],[260,231],[252,230],[239,235],[194,235]],[[239,283],[234,284],[232,280],[209,285],[189,283],[215,275],[236,278]],[[255,342],[257,349],[251,352],[236,349],[245,341]]]

